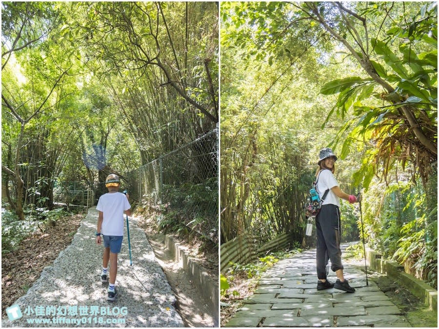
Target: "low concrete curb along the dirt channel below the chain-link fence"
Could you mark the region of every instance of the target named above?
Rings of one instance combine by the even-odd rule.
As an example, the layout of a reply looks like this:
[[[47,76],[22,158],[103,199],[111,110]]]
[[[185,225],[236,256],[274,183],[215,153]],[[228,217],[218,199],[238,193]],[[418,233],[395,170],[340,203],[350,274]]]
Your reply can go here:
[[[191,258],[179,242],[169,235],[164,236],[164,244],[180,268],[192,280],[199,294],[209,301],[207,305],[214,318],[215,327],[219,325],[219,285],[214,282],[207,271]]]

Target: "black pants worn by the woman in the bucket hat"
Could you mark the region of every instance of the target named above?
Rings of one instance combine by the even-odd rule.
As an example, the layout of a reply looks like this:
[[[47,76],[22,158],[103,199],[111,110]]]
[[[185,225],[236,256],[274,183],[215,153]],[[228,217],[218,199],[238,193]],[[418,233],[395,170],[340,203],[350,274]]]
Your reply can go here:
[[[326,279],[327,255],[331,259],[331,270],[343,269],[341,264],[341,223],[340,210],[334,204],[321,206],[316,217],[317,228],[317,277]]]

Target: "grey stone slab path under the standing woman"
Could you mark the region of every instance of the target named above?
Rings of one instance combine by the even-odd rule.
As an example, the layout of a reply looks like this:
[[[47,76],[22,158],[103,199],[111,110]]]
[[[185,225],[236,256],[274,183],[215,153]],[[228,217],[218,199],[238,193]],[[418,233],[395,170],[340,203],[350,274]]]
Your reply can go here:
[[[315,249],[280,260],[225,327],[411,327],[375,282],[366,285],[364,268],[344,267],[354,293],[317,290]],[[329,272],[334,283],[337,276]]]

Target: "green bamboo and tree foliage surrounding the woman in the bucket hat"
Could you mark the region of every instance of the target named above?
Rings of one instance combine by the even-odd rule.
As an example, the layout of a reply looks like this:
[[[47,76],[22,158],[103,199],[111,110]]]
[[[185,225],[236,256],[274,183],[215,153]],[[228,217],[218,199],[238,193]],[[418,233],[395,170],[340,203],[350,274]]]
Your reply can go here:
[[[434,284],[436,3],[222,2],[220,34],[222,241],[306,243],[329,146],[341,188],[363,193],[369,244]],[[356,211],[342,205],[354,239]]]

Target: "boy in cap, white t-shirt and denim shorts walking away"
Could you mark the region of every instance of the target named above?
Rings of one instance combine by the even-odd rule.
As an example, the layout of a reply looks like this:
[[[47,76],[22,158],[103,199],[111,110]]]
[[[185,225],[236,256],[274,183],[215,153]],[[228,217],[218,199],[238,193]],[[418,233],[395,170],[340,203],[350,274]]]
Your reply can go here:
[[[122,246],[123,225],[125,212],[131,216],[131,205],[125,194],[119,192],[120,181],[115,174],[110,174],[105,180],[105,187],[108,193],[100,196],[98,205],[98,229],[96,231],[96,243],[104,241],[104,253],[102,257],[102,273],[100,275],[101,282],[108,282],[108,300],[116,299],[117,290],[115,288],[116,274],[118,273],[118,254]],[[110,271],[108,271],[108,262],[111,263]],[[108,274],[110,274],[108,279]]]

